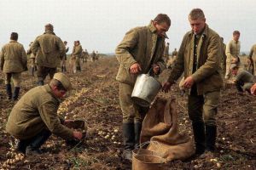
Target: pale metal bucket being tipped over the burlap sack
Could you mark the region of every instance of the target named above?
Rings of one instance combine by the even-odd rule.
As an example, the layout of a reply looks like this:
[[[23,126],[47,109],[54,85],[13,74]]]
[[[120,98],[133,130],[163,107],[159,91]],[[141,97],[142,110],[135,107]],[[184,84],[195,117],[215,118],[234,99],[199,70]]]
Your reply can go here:
[[[148,107],[162,88],[160,82],[148,74],[137,76],[131,99],[137,105]]]

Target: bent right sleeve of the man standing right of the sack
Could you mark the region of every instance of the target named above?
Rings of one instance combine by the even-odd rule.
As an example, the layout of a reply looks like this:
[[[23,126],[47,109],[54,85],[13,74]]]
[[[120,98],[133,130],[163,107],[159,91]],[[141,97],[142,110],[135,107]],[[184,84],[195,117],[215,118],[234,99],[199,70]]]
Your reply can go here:
[[[195,82],[201,82],[206,77],[210,77],[214,72],[220,69],[221,62],[221,44],[219,37],[213,36],[207,47],[207,61],[204,65],[192,74]]]

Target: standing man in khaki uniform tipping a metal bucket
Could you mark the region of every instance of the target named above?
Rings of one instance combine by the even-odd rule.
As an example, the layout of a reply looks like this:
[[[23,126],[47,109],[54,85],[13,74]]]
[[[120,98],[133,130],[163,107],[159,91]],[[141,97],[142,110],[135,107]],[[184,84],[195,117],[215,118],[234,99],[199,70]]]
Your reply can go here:
[[[166,31],[171,20],[166,14],[158,14],[148,26],[131,29],[115,50],[119,61],[116,79],[119,81],[119,102],[123,113],[123,157],[131,160],[131,150],[139,144],[143,115],[148,108],[134,105],[131,93],[140,73],[153,69],[154,75],[166,68],[164,62]]]

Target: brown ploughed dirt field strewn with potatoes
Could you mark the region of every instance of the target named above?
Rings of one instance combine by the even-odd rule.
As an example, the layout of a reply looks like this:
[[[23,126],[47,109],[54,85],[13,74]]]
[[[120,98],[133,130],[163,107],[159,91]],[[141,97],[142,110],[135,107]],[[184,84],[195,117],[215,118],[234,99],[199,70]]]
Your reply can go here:
[[[68,119],[83,118],[88,123],[88,135],[84,144],[67,146],[63,139],[50,137],[43,145],[41,156],[16,156],[13,151],[14,139],[4,131],[9,112],[15,105],[6,99],[3,81],[0,86],[0,169],[131,169],[131,162],[123,161],[121,111],[119,107],[118,82],[115,76],[119,64],[115,58],[100,59],[83,65],[82,72],[71,77],[73,91],[61,104],[61,116]],[[161,74],[166,80],[168,71]],[[3,73],[0,73],[3,79]],[[36,86],[36,78],[23,73],[21,95]],[[47,82],[49,79],[47,80]],[[191,133],[187,115],[186,96],[181,96],[174,85],[170,94],[177,98],[179,128]],[[236,94],[230,86],[222,91],[218,110],[218,152],[214,160],[195,159],[172,161],[168,169],[256,169],[256,97]],[[254,106],[254,110],[253,107]],[[16,156],[16,160],[14,161]],[[9,162],[11,161],[11,162]],[[7,167],[4,167],[8,163]]]

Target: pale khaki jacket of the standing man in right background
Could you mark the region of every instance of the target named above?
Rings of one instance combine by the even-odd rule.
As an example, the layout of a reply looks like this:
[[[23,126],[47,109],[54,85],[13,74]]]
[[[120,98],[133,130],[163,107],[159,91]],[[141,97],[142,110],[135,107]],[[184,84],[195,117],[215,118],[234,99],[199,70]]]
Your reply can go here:
[[[227,63],[231,63],[231,59],[239,57],[240,54],[240,41],[236,42],[235,40],[230,40],[230,42],[226,46],[226,56],[227,56]]]

